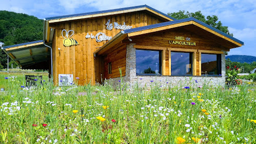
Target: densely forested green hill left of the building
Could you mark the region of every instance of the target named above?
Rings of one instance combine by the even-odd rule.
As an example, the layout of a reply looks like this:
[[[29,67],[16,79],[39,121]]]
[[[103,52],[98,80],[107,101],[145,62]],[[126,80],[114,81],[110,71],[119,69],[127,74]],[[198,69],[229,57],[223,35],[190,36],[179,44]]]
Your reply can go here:
[[[0,42],[5,46],[42,39],[42,19],[23,13],[0,11]]]

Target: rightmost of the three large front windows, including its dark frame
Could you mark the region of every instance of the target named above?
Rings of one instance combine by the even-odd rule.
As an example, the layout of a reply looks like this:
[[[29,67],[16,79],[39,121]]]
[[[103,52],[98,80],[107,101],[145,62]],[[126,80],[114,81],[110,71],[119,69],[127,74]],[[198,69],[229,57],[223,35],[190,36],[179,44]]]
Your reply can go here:
[[[221,54],[201,54],[201,74],[221,74]]]

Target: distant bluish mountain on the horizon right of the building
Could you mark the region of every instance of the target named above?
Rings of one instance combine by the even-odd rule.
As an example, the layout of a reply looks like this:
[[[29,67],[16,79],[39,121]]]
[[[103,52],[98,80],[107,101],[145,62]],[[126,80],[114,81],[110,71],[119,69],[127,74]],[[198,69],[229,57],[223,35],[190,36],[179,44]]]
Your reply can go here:
[[[228,55],[226,56],[226,59],[229,58],[231,61],[237,61],[240,63],[252,63],[253,61],[256,61],[256,56],[251,55]]]

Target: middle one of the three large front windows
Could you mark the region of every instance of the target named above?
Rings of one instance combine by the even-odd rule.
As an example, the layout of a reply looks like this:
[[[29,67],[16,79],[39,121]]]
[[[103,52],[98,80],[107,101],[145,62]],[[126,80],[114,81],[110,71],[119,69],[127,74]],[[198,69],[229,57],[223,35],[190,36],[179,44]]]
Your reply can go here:
[[[192,75],[192,53],[171,52],[172,75]]]

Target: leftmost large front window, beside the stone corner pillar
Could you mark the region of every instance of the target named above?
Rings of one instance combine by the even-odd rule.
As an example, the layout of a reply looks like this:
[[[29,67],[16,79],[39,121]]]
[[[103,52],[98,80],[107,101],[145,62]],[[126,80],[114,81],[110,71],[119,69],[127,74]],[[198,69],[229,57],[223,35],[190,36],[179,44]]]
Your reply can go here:
[[[161,51],[136,49],[136,74],[160,75]]]

